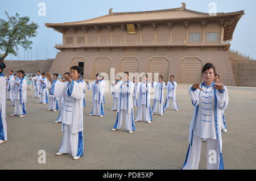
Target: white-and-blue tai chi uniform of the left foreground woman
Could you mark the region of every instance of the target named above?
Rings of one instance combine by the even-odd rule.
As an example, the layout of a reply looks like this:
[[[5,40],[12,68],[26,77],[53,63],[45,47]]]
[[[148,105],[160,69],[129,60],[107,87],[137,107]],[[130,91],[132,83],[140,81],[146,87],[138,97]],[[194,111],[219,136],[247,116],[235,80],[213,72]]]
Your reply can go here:
[[[73,157],[84,155],[83,111],[84,83],[76,81],[55,83],[54,96],[64,98],[63,137],[60,153],[70,153]]]

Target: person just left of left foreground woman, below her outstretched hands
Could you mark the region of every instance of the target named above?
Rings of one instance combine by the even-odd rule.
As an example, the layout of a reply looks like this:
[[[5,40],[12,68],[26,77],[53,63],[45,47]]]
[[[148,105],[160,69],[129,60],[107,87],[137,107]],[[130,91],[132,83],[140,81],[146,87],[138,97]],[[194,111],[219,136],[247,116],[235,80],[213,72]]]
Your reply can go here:
[[[59,105],[60,105],[59,98],[53,95],[55,90],[55,83],[59,82],[59,80],[57,79],[58,76],[59,74],[53,74],[52,84],[47,83],[48,89],[49,89],[49,108],[47,111],[53,111],[53,112],[59,111]]]

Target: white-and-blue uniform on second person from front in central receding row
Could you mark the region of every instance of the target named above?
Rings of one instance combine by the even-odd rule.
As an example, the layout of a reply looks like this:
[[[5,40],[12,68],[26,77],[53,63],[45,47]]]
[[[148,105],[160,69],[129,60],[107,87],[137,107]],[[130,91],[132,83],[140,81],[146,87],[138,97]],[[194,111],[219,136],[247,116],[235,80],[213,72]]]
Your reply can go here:
[[[137,121],[152,121],[151,116],[151,107],[150,107],[150,91],[151,83],[146,82],[147,85],[143,82],[138,85],[138,99],[137,99]],[[144,119],[143,119],[144,117]]]

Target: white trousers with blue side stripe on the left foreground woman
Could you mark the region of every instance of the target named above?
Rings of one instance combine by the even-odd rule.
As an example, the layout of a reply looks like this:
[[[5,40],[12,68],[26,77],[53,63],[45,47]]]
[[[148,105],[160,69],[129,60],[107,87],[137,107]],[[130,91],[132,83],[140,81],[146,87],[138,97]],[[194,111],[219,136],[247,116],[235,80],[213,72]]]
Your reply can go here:
[[[68,153],[73,157],[84,155],[83,133],[71,133],[71,125],[64,124],[64,132],[60,146],[60,153]]]

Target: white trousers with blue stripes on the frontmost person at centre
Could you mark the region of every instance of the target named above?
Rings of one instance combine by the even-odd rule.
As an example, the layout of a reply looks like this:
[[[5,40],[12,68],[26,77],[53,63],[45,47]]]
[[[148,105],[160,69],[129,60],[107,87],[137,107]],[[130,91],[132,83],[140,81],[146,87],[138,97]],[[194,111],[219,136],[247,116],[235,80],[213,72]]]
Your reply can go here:
[[[120,112],[117,112],[117,119],[115,120],[113,128],[121,129],[123,120],[125,120],[125,129],[127,131],[135,131],[133,110],[131,110],[130,113],[128,113],[128,110],[120,110]]]

